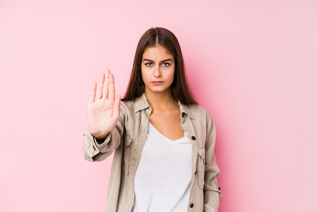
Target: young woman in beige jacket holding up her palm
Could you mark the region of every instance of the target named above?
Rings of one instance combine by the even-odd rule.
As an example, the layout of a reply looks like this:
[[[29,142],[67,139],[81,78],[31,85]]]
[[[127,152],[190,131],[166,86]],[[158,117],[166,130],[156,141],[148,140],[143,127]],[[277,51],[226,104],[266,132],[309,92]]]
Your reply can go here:
[[[190,92],[177,38],[165,28],[141,37],[125,96],[110,70],[94,82],[83,152],[114,151],[107,212],[217,211],[215,126]]]

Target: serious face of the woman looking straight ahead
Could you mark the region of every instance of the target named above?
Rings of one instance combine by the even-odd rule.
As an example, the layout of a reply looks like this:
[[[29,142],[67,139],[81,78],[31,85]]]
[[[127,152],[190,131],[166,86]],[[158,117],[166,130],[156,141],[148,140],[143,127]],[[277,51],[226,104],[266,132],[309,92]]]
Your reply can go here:
[[[166,48],[160,45],[146,48],[141,61],[141,75],[145,83],[145,93],[171,92],[174,69],[174,58]]]

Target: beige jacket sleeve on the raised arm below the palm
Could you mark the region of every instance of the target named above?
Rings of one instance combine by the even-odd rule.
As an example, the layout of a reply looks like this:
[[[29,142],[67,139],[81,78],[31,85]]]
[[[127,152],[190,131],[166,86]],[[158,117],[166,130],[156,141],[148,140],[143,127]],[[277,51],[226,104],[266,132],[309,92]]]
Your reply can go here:
[[[106,136],[104,142],[100,144],[97,143],[96,138],[90,134],[89,128],[86,128],[83,141],[83,153],[86,160],[91,162],[105,160],[119,147],[124,128],[124,116],[125,114],[120,105],[120,118],[116,127]]]

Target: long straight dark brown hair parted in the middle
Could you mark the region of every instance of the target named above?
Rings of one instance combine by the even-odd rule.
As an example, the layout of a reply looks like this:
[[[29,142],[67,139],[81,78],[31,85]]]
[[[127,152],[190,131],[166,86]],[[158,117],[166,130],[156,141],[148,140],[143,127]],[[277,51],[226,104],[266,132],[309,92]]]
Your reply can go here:
[[[161,27],[148,29],[140,38],[135,54],[130,81],[125,96],[121,100],[134,100],[145,92],[145,84],[141,76],[142,55],[146,48],[155,45],[163,46],[174,57],[175,77],[171,85],[173,97],[183,104],[197,104],[197,101],[194,99],[193,94],[187,84],[184,71],[184,62],[179,42],[171,31]]]

